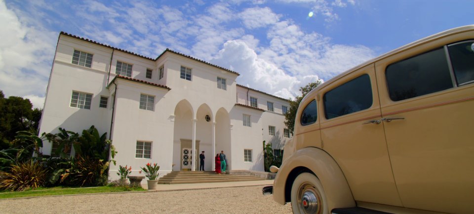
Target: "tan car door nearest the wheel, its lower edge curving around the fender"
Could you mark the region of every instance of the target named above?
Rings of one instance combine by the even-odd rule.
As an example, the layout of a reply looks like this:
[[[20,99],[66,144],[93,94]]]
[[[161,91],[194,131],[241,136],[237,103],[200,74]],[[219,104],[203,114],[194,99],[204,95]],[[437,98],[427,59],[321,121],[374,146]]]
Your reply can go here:
[[[381,124],[374,65],[319,89],[321,148],[343,171],[356,201],[401,206]]]

